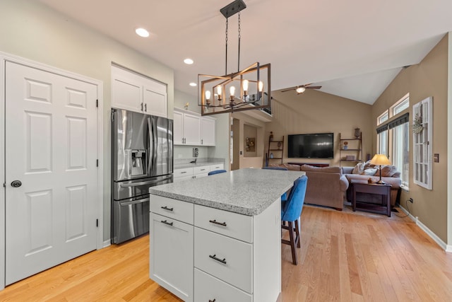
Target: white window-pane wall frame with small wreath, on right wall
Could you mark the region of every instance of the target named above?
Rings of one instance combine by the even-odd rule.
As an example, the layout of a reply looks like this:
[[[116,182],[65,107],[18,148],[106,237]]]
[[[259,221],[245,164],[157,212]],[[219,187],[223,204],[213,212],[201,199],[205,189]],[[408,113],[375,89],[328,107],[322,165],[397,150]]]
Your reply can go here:
[[[412,106],[413,182],[432,190],[432,97]]]

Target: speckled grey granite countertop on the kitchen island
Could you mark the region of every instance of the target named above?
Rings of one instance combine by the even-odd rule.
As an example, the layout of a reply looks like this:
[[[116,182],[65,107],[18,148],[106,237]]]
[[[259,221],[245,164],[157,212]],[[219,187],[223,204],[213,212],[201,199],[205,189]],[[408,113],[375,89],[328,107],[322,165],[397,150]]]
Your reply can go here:
[[[150,187],[150,194],[238,214],[260,214],[289,190],[302,171],[240,169],[205,178]],[[152,196],[151,202],[152,202]]]

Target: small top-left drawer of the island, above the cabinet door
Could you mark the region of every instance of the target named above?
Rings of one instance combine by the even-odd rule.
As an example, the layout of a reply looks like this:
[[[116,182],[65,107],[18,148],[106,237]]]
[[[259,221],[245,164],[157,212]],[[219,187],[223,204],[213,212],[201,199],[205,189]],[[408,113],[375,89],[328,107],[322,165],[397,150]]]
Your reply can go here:
[[[150,211],[171,219],[193,224],[194,204],[181,200],[150,194]]]

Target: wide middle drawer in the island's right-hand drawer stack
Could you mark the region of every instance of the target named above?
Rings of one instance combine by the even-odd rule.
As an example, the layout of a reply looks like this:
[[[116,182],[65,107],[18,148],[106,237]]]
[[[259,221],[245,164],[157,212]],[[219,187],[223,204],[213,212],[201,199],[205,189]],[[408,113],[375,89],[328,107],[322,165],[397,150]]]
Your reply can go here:
[[[253,248],[249,243],[195,227],[194,265],[242,291],[253,292]]]

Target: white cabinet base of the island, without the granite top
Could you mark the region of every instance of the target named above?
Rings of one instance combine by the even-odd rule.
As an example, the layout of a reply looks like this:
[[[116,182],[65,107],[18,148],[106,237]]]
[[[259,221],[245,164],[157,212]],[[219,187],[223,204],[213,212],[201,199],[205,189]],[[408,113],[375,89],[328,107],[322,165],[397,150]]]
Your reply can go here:
[[[158,284],[184,301],[277,301],[280,199],[246,216],[151,194],[150,211],[150,278]]]

